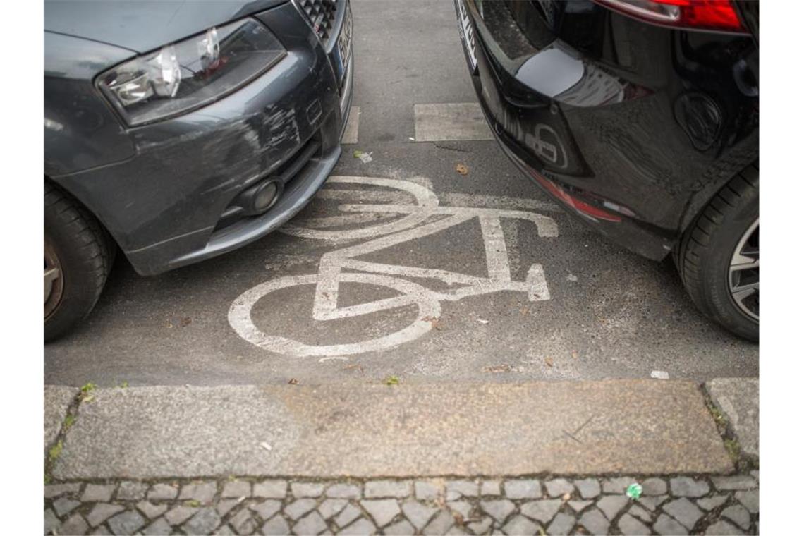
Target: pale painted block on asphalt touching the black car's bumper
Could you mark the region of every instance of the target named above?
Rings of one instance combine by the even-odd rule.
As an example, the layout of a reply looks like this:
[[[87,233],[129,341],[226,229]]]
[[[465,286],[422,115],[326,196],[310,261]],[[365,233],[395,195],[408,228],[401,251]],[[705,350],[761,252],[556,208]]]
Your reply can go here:
[[[493,140],[480,104],[414,104],[416,141]]]

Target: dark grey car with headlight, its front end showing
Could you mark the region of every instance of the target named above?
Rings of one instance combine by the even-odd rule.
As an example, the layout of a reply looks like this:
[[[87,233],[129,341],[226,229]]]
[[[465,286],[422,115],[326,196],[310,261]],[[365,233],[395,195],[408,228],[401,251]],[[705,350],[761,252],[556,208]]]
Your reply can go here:
[[[44,331],[142,275],[240,248],[330,174],[351,104],[348,0],[45,2]]]

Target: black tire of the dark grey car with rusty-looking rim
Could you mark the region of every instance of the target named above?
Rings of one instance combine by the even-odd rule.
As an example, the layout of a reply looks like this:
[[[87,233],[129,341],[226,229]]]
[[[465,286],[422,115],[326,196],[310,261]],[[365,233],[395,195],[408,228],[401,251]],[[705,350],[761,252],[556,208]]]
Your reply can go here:
[[[44,188],[45,262],[59,265],[59,296],[45,299],[44,339],[67,333],[92,311],[106,277],[115,245],[100,223],[74,198],[51,182]]]

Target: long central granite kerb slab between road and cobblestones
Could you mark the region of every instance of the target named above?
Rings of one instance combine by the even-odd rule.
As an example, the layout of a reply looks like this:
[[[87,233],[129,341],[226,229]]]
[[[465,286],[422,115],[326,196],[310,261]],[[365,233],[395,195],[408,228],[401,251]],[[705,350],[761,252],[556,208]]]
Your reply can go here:
[[[140,387],[80,407],[59,479],[722,473],[695,383]]]

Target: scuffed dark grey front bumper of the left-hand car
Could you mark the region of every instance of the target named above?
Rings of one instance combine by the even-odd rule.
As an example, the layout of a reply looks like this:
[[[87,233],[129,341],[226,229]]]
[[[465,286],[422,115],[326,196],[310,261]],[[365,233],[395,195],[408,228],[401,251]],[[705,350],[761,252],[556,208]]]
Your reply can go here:
[[[354,60],[338,36],[351,8],[338,2],[330,39],[318,39],[293,2],[257,14],[287,54],[213,104],[130,129],[136,155],[54,178],[92,211],[142,275],[240,248],[280,227],[334,168],[351,104]],[[232,202],[265,178],[284,191],[268,211],[230,216]]]

